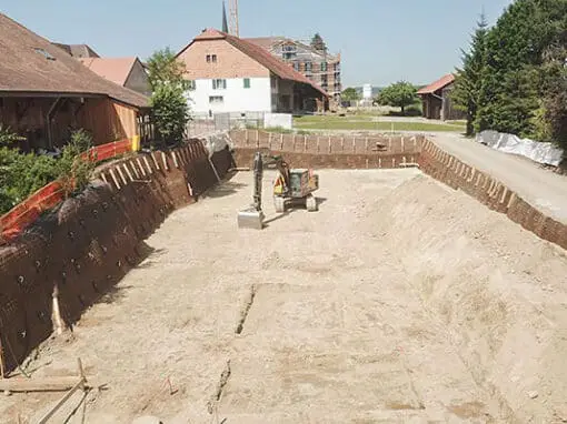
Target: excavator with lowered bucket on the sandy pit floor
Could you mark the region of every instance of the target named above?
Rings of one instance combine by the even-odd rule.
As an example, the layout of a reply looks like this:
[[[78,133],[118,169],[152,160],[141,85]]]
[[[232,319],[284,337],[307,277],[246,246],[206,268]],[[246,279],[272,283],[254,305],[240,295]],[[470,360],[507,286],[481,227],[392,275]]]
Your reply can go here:
[[[238,213],[238,226],[261,230],[265,214],[261,208],[263,169],[275,168],[278,175],[273,181],[273,205],[284,213],[292,204],[302,204],[309,212],[317,211],[314,192],[319,189],[319,175],[310,169],[290,169],[281,155],[256,152],[253,157],[252,204]]]

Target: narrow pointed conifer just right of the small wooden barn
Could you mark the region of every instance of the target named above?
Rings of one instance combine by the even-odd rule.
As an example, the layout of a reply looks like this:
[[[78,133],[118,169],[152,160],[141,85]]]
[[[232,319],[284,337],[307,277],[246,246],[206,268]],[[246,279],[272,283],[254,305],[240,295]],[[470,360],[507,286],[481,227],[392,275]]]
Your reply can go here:
[[[483,87],[483,71],[486,64],[487,33],[488,22],[483,13],[472,36],[470,50],[461,50],[462,68],[457,68],[457,79],[451,91],[451,100],[455,102],[455,107],[467,113],[467,135],[475,133],[474,125]]]

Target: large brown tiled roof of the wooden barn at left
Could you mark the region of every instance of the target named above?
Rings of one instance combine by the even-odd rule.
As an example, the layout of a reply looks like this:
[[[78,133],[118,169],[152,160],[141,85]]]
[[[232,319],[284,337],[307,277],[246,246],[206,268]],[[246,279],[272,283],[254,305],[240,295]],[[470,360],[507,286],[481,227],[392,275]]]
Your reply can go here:
[[[0,95],[49,93],[107,95],[133,107],[148,98],[97,75],[64,50],[0,13]]]

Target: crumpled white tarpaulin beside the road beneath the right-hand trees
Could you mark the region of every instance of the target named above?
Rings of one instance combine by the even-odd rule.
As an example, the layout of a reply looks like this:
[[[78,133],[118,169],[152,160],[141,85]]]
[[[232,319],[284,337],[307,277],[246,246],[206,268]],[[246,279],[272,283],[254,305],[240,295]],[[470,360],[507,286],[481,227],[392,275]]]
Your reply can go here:
[[[543,143],[497,131],[483,131],[477,135],[479,143],[505,153],[514,153],[535,162],[558,166],[563,159],[563,149],[551,143]]]

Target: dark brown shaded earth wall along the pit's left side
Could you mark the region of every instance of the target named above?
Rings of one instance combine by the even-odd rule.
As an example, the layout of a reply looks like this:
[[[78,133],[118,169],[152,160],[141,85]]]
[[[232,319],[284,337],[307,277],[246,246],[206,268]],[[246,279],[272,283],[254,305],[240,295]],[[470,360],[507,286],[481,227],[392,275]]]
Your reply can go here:
[[[92,186],[0,249],[0,336],[8,370],[53,331],[58,293],[64,324],[149,253],[143,243],[177,208],[196,201],[232,166],[227,149],[209,161],[201,141],[106,166]]]

